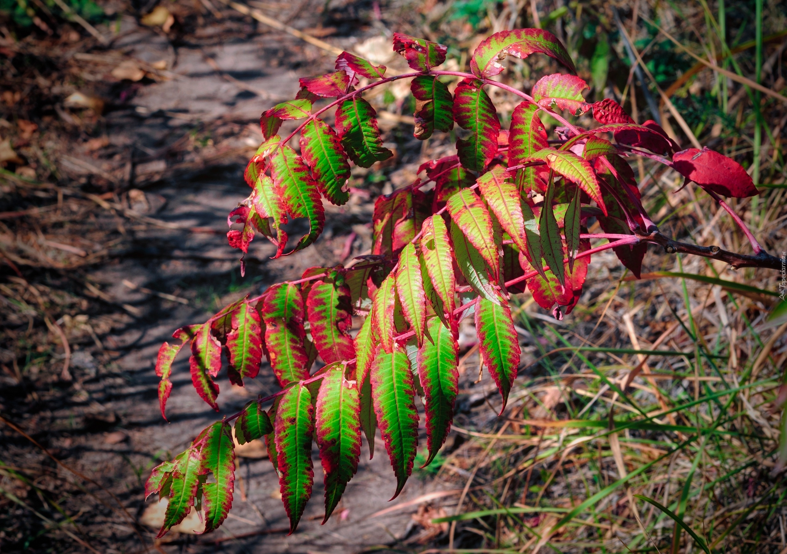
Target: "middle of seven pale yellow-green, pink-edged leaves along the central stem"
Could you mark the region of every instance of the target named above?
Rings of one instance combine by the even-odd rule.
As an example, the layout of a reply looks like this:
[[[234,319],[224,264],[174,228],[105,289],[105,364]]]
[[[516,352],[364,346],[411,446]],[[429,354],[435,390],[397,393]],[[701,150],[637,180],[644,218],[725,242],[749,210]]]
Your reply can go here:
[[[456,309],[456,276],[453,274],[453,249],[442,216],[430,216],[423,222],[419,242],[425,286],[434,290],[436,297],[430,297],[434,311],[442,317],[449,327],[453,327],[453,311]],[[423,274],[423,271],[422,271]],[[428,285],[427,285],[428,282]]]

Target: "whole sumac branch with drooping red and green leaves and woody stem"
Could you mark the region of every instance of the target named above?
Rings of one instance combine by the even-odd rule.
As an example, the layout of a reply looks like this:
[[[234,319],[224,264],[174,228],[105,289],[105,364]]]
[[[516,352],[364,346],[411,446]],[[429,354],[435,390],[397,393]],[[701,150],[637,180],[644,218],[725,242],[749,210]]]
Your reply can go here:
[[[449,432],[459,379],[460,319],[475,318],[482,361],[504,406],[519,365],[509,294],[527,286],[538,305],[560,319],[581,296],[593,253],[614,249],[637,278],[648,243],[734,267],[780,267],[719,198],[757,194],[737,162],[708,149],[676,152],[674,141],[655,122],[636,124],[609,99],[585,102],[587,86],[578,76],[544,76],[532,96],[489,79],[502,71],[506,55],[545,54],[575,72],[566,49],[548,31],[492,35],[471,58],[472,73],[435,70],[445,61],[446,49],[434,42],[397,33],[393,49],[415,72],[386,78],[384,66],[345,52],[336,72],[301,79],[296,98],[260,116],[265,141],[246,168],[251,194],[230,214],[230,223],[237,218],[234,223],[243,224],[242,231],[227,233],[230,245],[246,253],[260,233],[280,257],[320,236],[323,198],[336,205],[349,198],[350,163],[368,168],[392,155],[383,146],[375,109],[363,97],[371,88],[412,79],[418,139],[450,131],[454,124],[467,133],[457,140],[456,155],[422,164],[422,179],[376,199],[371,256],[351,268],[309,268],[302,279],[228,305],[207,322],[176,331],[172,345],[161,345],[156,372],[162,415],[172,390],[172,361],[187,343],[194,387],[216,410],[214,379],[223,350],[231,382],[253,379],[264,356],[282,390],[214,423],[175,460],[153,470],[146,494],[169,498],[159,536],[191,508],[205,512],[205,532],[227,517],[235,471],[233,420],[240,444],[265,438],[291,531],[312,495],[312,438],[325,472],[325,521],[356,472],[361,430],[370,456],[375,427],[382,431],[396,497],[416,457],[416,391],[423,391],[426,406],[427,464]],[[358,76],[372,82],[355,88]],[[456,77],[460,81],[452,94],[445,81]],[[501,131],[487,87],[523,98],[508,131]],[[333,107],[335,128],[320,117]],[[599,125],[576,127],[557,109],[591,113]],[[564,125],[556,128],[556,139],[548,138],[541,121],[545,113]],[[282,138],[277,132],[283,120],[302,121]],[[288,146],[298,134],[300,153]],[[741,226],[754,254],[663,235],[640,201],[626,163],[632,154],[667,164],[687,184],[708,191]],[[432,182],[434,187],[422,190]],[[285,252],[281,226],[296,217],[309,220],[309,232]],[[588,232],[590,218],[603,232]],[[354,338],[349,333],[353,314],[366,316]],[[318,356],[326,365],[310,375]],[[264,412],[261,404],[271,400]]]

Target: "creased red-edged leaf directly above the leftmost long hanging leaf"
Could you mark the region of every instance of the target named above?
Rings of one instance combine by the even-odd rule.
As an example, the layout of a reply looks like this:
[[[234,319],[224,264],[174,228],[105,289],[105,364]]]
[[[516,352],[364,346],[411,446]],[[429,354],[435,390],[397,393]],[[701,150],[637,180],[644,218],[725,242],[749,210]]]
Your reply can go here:
[[[265,345],[281,386],[309,377],[305,349],[304,302],[301,291],[290,283],[276,283],[265,293],[260,315],[265,324]]]

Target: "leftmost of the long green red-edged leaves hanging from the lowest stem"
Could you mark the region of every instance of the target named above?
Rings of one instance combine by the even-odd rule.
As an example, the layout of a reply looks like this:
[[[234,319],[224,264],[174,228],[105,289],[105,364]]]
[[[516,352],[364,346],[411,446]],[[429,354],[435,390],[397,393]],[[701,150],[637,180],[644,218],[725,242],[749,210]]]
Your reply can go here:
[[[290,518],[290,534],[297,528],[312,496],[312,419],[314,407],[309,389],[301,384],[287,390],[276,408],[274,423],[279,488]]]

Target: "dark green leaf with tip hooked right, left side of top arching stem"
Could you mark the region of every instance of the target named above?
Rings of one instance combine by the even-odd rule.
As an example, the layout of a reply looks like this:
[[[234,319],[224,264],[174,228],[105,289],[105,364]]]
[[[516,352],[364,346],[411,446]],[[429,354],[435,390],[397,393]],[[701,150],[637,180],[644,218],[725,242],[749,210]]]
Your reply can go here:
[[[349,159],[362,168],[387,160],[393,152],[382,146],[377,112],[364,98],[353,96],[336,109],[336,131]]]

